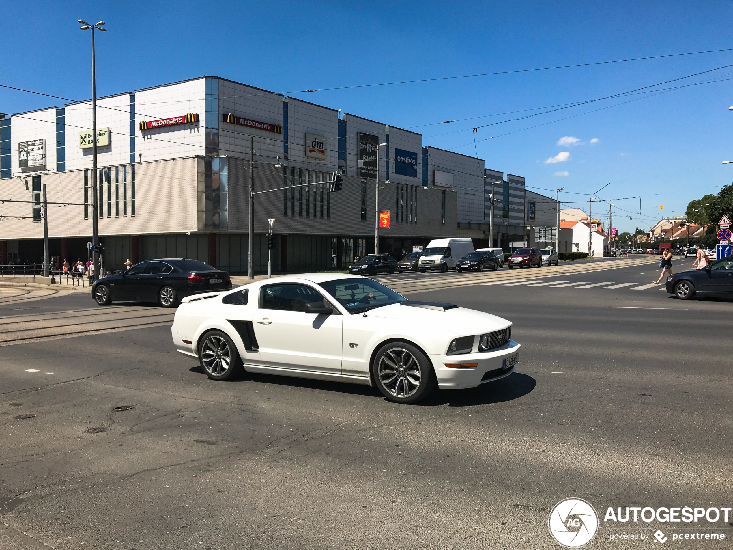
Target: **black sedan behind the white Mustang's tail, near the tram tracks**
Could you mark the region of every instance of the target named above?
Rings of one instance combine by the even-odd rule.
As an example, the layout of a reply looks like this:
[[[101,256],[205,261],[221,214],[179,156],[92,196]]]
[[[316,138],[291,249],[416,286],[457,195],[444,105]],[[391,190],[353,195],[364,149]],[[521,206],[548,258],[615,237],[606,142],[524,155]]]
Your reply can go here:
[[[136,263],[127,271],[97,280],[92,297],[100,306],[114,300],[158,301],[163,307],[174,307],[185,296],[231,288],[226,271],[196,260],[163,258]]]

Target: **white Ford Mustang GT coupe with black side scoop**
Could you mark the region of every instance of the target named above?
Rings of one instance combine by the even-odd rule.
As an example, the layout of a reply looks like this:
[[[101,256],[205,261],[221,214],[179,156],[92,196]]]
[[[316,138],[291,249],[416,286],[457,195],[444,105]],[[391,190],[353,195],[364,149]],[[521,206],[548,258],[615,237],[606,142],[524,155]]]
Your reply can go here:
[[[437,385],[473,388],[515,370],[512,323],[453,304],[409,301],[368,277],[306,274],[183,298],[178,351],[209,378],[242,368],[377,386],[416,403]]]

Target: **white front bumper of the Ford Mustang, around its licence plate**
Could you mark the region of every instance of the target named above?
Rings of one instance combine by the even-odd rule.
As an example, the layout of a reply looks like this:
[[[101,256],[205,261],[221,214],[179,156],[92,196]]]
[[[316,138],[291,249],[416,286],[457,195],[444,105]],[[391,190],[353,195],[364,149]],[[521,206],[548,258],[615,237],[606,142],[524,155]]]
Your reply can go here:
[[[481,384],[509,376],[515,371],[516,365],[504,369],[504,359],[519,353],[521,347],[522,345],[519,342],[509,340],[501,348],[483,353],[431,355],[430,360],[435,366],[435,375],[438,377],[438,387],[440,389],[475,388]],[[478,363],[478,366],[457,369],[446,367],[446,363]],[[486,379],[484,379],[485,377]]]

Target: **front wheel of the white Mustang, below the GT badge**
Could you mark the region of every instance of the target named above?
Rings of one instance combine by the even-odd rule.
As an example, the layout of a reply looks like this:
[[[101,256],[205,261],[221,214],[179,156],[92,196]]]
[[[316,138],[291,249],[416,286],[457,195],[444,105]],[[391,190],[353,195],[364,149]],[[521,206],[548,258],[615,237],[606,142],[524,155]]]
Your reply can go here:
[[[424,399],[438,386],[430,360],[409,342],[383,345],[375,355],[372,375],[384,397],[405,405]]]

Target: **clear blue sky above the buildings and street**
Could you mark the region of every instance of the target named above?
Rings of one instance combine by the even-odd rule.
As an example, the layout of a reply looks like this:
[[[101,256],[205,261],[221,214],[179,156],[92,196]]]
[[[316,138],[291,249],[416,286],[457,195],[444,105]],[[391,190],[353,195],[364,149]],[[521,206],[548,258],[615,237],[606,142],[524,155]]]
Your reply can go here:
[[[517,116],[490,115],[603,98],[732,65],[733,51],[293,93],[733,48],[729,1],[5,3],[0,84],[89,98],[89,33],[78,29],[79,18],[104,20],[109,29],[97,35],[97,95],[201,75],[231,78],[413,129],[424,144],[477,152],[488,168],[526,177],[534,191],[564,186],[567,207],[587,206],[572,201],[610,182],[599,197],[642,197],[642,216],[638,199],[616,202],[614,226],[622,231],[645,229],[661,213],[682,214],[690,199],[733,180],[733,164],[721,164],[733,161],[733,80],[479,128],[475,148],[472,131]],[[662,88],[724,78],[733,78],[733,67]],[[2,112],[55,103],[62,102],[0,89]],[[578,141],[558,144],[564,137]],[[550,158],[558,161],[545,162]]]

